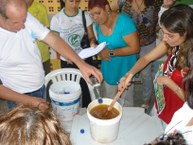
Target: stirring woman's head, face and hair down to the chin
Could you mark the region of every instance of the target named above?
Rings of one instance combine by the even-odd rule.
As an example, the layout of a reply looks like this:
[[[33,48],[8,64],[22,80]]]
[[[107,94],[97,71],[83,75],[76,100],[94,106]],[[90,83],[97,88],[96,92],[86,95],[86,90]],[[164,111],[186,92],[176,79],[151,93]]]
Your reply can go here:
[[[179,4],[165,11],[160,19],[163,40],[171,47],[193,39],[193,9]]]

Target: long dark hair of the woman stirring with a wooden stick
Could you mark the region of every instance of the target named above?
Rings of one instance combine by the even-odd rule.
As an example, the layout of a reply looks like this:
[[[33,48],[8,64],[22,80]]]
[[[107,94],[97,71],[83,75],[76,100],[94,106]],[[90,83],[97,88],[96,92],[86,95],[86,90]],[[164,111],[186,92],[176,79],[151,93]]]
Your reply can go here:
[[[193,47],[193,9],[185,4],[176,5],[162,14],[160,24],[169,32],[179,33],[180,36],[186,37],[178,53],[175,66],[180,70],[186,66],[186,55],[188,50]]]

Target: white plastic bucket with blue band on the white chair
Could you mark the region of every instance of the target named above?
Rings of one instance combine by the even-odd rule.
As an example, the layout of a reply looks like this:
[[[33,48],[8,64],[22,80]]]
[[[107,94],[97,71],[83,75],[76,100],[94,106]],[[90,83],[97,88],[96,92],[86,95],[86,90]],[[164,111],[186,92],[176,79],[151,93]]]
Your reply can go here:
[[[55,82],[49,95],[54,112],[60,121],[70,121],[79,112],[81,87],[72,81]]]

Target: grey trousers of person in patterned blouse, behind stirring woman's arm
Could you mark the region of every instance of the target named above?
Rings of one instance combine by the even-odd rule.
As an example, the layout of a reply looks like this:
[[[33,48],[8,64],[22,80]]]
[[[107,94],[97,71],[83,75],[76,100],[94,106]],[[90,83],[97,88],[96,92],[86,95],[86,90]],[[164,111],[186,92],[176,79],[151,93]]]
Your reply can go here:
[[[139,56],[143,57],[156,46],[156,42],[151,43],[150,45],[141,47]],[[145,103],[151,101],[153,95],[153,77],[152,77],[152,65],[149,63],[141,72],[142,78],[142,96]]]

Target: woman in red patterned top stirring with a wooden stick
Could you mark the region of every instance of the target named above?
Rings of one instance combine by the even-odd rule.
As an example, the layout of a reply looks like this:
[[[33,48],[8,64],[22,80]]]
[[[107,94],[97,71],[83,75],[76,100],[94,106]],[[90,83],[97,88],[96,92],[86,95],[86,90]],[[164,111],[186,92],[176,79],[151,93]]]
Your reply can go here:
[[[176,5],[163,13],[160,24],[163,41],[140,58],[120,80],[119,90],[129,86],[133,76],[151,61],[168,53],[167,60],[158,71],[154,88],[157,113],[165,123],[169,123],[185,100],[182,79],[187,72],[188,50],[193,47],[193,9],[187,5]]]

